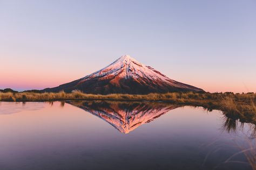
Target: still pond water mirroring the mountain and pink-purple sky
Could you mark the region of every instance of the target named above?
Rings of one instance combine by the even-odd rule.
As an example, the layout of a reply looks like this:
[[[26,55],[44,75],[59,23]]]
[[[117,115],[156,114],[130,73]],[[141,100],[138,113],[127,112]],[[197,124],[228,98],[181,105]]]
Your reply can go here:
[[[251,169],[253,128],[165,103],[0,102],[0,169]]]

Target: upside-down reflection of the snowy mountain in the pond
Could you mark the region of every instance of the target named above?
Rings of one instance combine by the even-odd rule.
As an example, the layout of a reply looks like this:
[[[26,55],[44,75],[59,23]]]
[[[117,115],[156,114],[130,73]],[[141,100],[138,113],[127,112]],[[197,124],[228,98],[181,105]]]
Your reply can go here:
[[[129,133],[140,125],[178,108],[177,105],[169,103],[149,102],[68,101],[67,103],[102,118],[122,133]]]

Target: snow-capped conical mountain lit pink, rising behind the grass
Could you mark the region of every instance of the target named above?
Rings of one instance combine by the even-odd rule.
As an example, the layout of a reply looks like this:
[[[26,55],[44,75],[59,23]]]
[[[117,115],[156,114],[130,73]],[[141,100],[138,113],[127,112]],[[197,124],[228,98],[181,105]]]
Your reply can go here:
[[[121,56],[109,66],[46,92],[81,90],[89,94],[149,94],[171,91],[203,91],[203,89],[180,83],[161,74],[150,66],[145,66],[129,55]]]

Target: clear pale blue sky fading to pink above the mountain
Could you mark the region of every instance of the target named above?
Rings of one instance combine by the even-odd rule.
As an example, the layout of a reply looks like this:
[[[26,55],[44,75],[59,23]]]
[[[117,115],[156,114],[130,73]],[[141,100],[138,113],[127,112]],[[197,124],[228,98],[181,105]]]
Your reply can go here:
[[[256,92],[256,1],[0,0],[0,89],[44,89],[130,55],[205,91]]]

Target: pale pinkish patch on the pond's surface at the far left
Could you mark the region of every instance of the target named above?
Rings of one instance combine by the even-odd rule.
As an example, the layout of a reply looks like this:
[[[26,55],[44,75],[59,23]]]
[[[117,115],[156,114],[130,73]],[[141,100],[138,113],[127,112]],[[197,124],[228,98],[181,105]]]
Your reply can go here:
[[[40,110],[44,108],[43,102],[0,102],[0,114],[15,114],[20,111]]]

